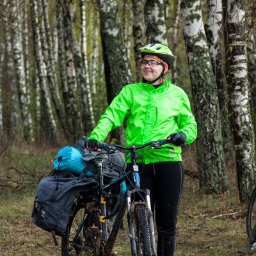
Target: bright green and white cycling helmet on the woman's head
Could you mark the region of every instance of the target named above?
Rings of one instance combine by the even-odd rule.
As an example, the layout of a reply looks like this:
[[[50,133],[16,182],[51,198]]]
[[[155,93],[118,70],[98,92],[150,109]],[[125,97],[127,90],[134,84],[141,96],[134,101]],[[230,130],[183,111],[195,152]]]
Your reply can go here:
[[[157,43],[147,44],[144,47],[141,47],[140,50],[141,58],[144,58],[145,55],[151,54],[166,62],[168,64],[168,69],[172,67],[175,56],[166,45]]]

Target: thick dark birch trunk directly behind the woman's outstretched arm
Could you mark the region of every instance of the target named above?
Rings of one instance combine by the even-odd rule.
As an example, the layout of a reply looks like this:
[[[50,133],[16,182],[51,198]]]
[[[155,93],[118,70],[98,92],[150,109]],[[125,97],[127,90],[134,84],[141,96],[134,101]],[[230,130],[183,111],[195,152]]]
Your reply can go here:
[[[131,67],[125,49],[124,34],[115,0],[97,0],[100,13],[100,35],[102,55],[108,94],[108,103],[120,92],[125,84],[132,83]],[[124,144],[124,129],[116,129],[111,139]]]

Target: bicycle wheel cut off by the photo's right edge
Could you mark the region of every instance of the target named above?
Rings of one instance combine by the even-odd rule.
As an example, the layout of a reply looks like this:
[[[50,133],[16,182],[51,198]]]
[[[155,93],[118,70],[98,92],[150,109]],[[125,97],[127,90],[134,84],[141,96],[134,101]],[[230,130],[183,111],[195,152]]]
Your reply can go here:
[[[256,242],[256,187],[250,198],[246,216],[246,230],[250,243]]]

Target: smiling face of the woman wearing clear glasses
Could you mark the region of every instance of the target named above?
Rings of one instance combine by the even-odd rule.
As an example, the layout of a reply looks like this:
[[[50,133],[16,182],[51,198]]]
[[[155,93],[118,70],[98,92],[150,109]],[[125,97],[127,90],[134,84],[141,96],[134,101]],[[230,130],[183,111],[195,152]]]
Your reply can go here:
[[[147,81],[153,81],[160,76],[163,71],[163,64],[154,60],[151,57],[145,57],[141,61],[141,72],[143,73],[143,77]],[[158,80],[154,83],[157,84]]]

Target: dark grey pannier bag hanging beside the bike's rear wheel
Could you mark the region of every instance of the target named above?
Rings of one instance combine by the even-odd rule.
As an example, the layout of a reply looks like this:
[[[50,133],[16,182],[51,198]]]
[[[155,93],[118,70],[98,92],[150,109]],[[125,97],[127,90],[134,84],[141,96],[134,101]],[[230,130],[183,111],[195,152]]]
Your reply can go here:
[[[68,220],[73,215],[72,204],[76,196],[97,186],[94,179],[81,179],[71,172],[53,170],[42,179],[36,189],[32,221],[36,226],[56,236],[64,236]]]

